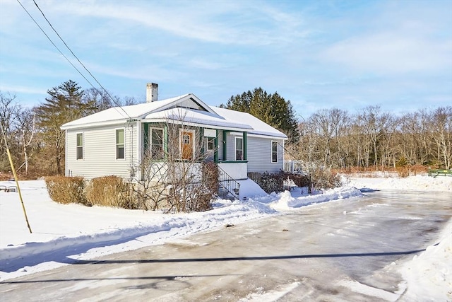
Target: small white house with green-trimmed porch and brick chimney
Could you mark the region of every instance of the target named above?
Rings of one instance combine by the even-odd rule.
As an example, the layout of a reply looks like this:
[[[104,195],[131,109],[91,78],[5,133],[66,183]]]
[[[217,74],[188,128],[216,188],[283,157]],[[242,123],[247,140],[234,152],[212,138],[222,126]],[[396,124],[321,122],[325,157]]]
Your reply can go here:
[[[148,84],[146,103],[110,108],[64,124],[66,176],[118,175],[140,180],[146,155],[165,161],[168,125],[179,125],[181,160],[203,153],[234,180],[250,172],[283,170],[287,136],[244,112],[206,105],[189,93],[157,100],[157,84]]]

